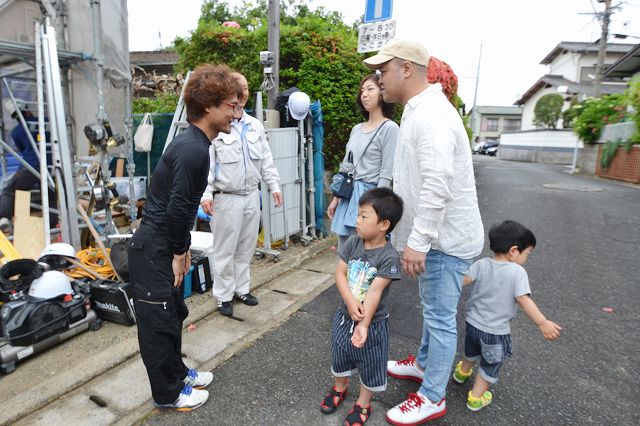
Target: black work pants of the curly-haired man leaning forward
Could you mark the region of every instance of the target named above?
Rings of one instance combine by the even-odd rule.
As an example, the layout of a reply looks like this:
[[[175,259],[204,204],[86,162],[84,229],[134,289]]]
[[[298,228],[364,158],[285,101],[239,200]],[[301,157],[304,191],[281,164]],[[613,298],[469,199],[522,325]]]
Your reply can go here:
[[[173,287],[172,260],[166,228],[143,222],[130,242],[129,277],[140,355],[158,404],[175,402],[188,372],[182,361],[182,323],[189,310],[181,289]]]

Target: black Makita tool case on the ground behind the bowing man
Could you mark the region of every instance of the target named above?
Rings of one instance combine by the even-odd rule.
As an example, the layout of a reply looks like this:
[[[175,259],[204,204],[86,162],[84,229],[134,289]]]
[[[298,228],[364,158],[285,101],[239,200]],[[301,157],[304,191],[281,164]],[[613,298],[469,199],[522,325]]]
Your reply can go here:
[[[93,280],[91,288],[91,306],[98,317],[123,325],[136,323],[133,309],[133,285],[111,280]]]

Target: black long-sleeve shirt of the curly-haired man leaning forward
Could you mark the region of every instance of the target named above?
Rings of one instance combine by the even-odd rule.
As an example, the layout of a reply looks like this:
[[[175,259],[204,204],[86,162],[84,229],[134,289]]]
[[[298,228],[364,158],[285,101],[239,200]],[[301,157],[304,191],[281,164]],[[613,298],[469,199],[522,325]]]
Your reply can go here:
[[[174,254],[191,245],[189,231],[207,187],[210,145],[207,135],[190,125],[169,144],[151,177],[142,215],[166,227]]]

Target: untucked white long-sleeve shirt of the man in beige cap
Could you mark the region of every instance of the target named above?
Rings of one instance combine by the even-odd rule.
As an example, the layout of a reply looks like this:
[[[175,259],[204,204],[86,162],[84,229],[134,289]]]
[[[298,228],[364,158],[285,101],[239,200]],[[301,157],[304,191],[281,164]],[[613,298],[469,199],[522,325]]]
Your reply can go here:
[[[439,250],[471,259],[484,245],[469,138],[439,83],[409,99],[400,123],[393,189],[404,214],[392,232],[398,251]]]

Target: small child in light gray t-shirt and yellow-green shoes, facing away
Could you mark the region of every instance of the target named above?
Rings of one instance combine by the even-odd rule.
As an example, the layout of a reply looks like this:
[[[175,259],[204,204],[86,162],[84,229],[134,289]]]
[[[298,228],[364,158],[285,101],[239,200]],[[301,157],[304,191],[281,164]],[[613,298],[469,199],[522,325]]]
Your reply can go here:
[[[480,360],[479,374],[469,391],[467,408],[478,411],[491,404],[489,387],[498,381],[505,357],[511,356],[511,319],[516,304],[540,328],[547,340],[560,336],[560,326],[549,321],[533,302],[527,271],[522,267],[536,246],[536,237],[518,222],[505,221],[489,231],[493,258],[475,262],[464,277],[464,285],[475,283],[466,306],[464,358],[453,372],[453,380],[464,383]]]

